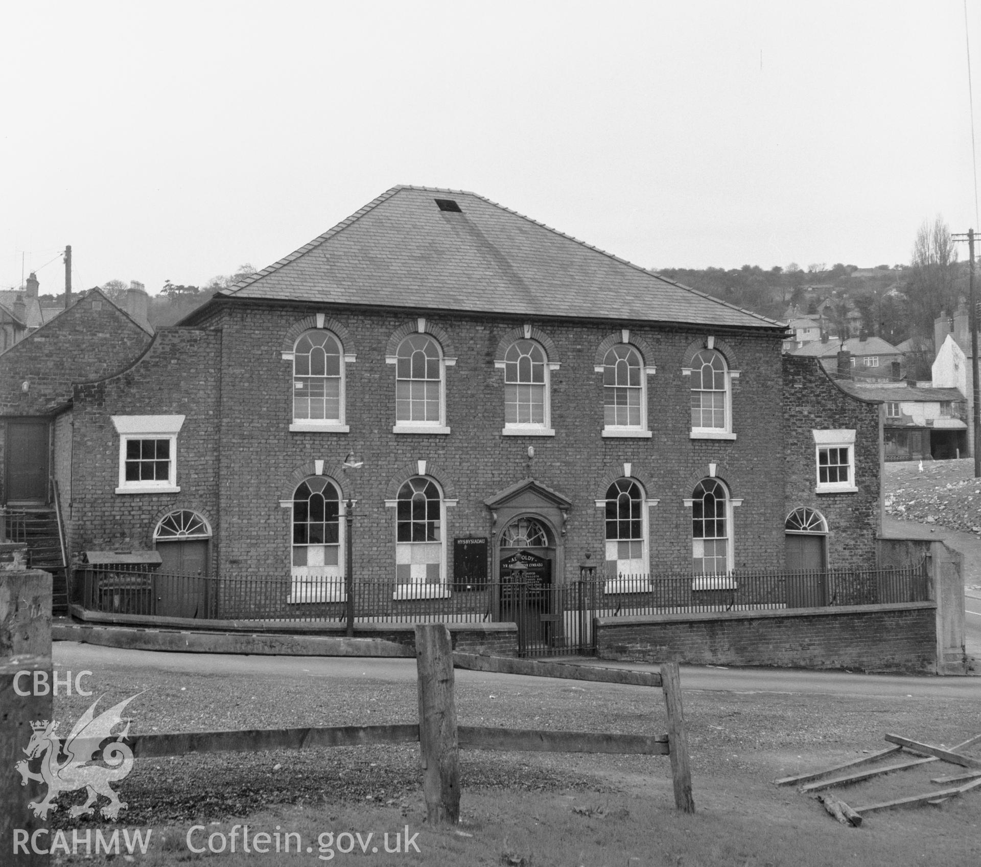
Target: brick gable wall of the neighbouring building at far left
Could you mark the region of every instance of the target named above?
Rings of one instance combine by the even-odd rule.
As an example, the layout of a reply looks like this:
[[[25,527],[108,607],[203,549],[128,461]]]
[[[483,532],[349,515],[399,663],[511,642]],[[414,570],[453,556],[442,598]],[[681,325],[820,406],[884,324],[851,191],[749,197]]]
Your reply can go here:
[[[0,355],[0,419],[50,415],[71,399],[72,383],[121,370],[149,342],[129,316],[100,292],[89,292]],[[0,424],[0,502],[6,498],[5,439]]]

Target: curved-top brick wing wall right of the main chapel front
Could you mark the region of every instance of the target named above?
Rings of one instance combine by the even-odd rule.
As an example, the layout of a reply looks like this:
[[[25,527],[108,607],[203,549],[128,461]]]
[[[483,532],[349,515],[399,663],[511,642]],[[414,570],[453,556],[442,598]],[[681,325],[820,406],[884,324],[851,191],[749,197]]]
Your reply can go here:
[[[812,358],[783,357],[783,439],[787,512],[816,509],[828,524],[828,566],[869,569],[876,565],[881,522],[880,405],[839,388]],[[817,493],[814,430],[853,430],[854,493]]]

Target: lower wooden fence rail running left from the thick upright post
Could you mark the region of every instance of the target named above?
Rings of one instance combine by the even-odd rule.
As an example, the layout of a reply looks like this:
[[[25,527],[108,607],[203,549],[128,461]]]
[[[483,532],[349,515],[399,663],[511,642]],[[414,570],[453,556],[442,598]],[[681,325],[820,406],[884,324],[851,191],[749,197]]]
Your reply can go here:
[[[419,726],[329,726],[305,729],[249,729],[234,732],[175,732],[130,735],[135,758],[187,755],[195,752],[251,752],[262,749],[311,749],[364,746],[371,743],[413,743]],[[64,746],[65,739],[62,739]]]

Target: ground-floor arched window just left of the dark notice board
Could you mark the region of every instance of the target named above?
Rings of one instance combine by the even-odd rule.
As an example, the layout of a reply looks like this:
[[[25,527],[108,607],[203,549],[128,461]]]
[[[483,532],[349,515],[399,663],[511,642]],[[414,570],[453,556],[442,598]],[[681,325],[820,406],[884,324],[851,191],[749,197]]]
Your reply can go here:
[[[439,486],[416,476],[395,503],[395,580],[399,595],[442,595],[445,576],[443,501]]]

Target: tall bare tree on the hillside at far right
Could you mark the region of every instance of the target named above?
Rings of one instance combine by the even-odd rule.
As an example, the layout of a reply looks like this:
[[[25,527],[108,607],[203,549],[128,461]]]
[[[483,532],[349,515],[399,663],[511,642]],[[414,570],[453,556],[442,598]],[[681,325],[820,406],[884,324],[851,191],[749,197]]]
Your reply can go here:
[[[906,275],[905,295],[911,325],[919,334],[932,334],[941,310],[957,303],[957,251],[944,219],[924,220],[916,231]]]

